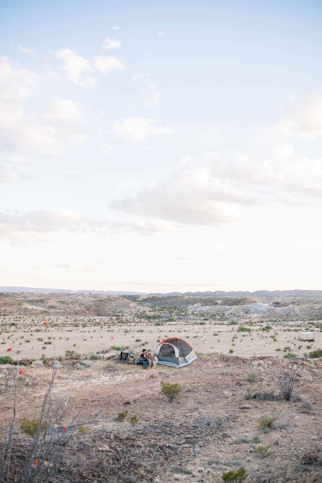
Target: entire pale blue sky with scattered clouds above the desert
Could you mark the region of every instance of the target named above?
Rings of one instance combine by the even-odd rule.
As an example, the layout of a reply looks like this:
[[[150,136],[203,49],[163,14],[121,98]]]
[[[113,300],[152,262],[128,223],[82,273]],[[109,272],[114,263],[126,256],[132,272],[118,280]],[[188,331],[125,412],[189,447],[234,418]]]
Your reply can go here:
[[[320,2],[0,6],[0,285],[322,289]]]

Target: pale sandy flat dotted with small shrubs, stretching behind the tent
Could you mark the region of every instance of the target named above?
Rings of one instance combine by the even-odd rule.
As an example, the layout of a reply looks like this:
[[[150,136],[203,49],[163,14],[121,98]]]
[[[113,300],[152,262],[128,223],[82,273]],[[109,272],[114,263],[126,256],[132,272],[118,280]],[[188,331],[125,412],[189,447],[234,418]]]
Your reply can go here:
[[[3,318],[4,319],[4,318]],[[6,326],[1,327],[0,334],[0,355],[6,355],[7,349],[12,347],[11,354],[20,351],[19,357],[30,357],[39,359],[41,355],[51,356],[53,344],[45,344],[51,341],[51,334],[43,324],[42,317],[24,317],[25,320],[18,322],[18,329],[9,324],[15,321],[14,317],[6,317]],[[33,319],[33,320],[32,320]],[[322,325],[321,329],[309,326],[307,322],[265,322],[259,324],[243,323],[238,325],[226,325],[217,321],[163,323],[160,326],[154,323],[129,323],[111,324],[107,317],[95,317],[95,322],[80,322],[80,327],[73,327],[72,320],[67,321],[65,317],[56,317],[50,321],[56,355],[65,355],[66,350],[74,350],[80,354],[97,353],[108,350],[111,346],[126,347],[136,346],[139,352],[143,347],[152,351],[167,337],[180,337],[188,341],[197,353],[219,353],[233,354],[243,357],[252,355],[279,355],[282,351],[277,348],[291,347],[296,354],[308,352],[307,346],[314,348],[322,347]],[[55,326],[54,324],[59,324]],[[62,325],[64,324],[64,326]],[[82,327],[86,324],[88,327]],[[263,331],[263,327],[269,324],[272,328]],[[238,332],[239,325],[249,327],[251,332]],[[102,328],[101,328],[102,327]],[[298,327],[313,327],[310,330],[315,332],[314,342],[298,341]],[[275,334],[276,341],[273,341]],[[42,338],[42,341],[38,341]],[[234,338],[234,340],[233,340]],[[140,341],[136,341],[140,339]],[[29,342],[28,342],[29,341]],[[4,342],[4,343],[3,343]],[[146,343],[148,342],[148,343]],[[142,345],[144,343],[144,346]],[[301,349],[298,346],[302,345]],[[44,349],[46,347],[46,349]]]

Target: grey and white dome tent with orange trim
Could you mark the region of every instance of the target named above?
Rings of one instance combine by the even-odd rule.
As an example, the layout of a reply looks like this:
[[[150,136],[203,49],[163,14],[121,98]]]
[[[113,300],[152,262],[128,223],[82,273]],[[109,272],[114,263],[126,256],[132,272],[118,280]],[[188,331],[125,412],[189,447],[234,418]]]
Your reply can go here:
[[[178,337],[171,337],[160,342],[154,351],[158,364],[179,369],[188,366],[197,356],[188,342]]]

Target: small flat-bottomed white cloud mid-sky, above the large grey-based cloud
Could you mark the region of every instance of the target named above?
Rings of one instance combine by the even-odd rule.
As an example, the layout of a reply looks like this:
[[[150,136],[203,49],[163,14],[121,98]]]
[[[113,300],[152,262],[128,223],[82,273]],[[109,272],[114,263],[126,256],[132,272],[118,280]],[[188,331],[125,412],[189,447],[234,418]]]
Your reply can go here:
[[[110,132],[111,144],[118,142],[144,142],[149,136],[160,134],[172,134],[174,131],[170,126],[159,127],[156,121],[144,117],[131,117],[124,119],[121,123],[114,123]]]

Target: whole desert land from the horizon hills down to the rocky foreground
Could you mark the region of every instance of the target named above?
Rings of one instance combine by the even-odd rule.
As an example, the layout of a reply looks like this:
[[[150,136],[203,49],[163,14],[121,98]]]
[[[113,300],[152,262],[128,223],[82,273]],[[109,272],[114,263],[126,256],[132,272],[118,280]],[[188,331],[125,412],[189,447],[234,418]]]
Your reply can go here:
[[[44,443],[34,481],[208,483],[243,467],[248,482],[322,481],[322,359],[312,357],[322,297],[2,293],[0,314],[0,356],[27,361],[16,382],[17,366],[0,366],[2,444],[17,392],[9,481],[21,481],[33,441],[23,418],[40,417],[53,371],[51,410],[66,404],[51,431],[70,436],[52,458]],[[115,362],[167,337],[198,358],[181,369]],[[294,366],[286,401],[278,376]],[[181,385],[172,402],[162,381]]]

